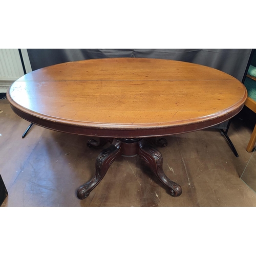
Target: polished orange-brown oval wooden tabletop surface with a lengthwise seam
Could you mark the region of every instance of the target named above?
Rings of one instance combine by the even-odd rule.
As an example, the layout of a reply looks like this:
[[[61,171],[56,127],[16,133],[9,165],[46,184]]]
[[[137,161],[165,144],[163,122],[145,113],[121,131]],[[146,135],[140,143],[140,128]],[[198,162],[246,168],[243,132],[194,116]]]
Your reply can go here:
[[[20,111],[55,122],[152,129],[218,118],[246,100],[244,85],[216,69],[182,61],[92,59],[33,71],[13,83]]]

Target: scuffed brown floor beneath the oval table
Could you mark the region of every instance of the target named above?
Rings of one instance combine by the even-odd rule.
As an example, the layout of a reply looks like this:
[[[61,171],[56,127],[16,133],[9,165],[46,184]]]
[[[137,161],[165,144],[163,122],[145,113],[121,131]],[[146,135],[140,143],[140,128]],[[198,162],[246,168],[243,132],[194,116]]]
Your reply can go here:
[[[183,188],[180,197],[169,196],[139,157],[121,157],[79,200],[76,188],[93,176],[101,150],[88,148],[88,137],[35,125],[22,139],[29,122],[7,100],[0,110],[0,174],[9,193],[2,206],[256,206],[255,192],[240,179],[245,167],[254,171],[256,153],[245,150],[253,127],[239,116],[228,133],[238,158],[218,130],[166,137],[163,168]]]

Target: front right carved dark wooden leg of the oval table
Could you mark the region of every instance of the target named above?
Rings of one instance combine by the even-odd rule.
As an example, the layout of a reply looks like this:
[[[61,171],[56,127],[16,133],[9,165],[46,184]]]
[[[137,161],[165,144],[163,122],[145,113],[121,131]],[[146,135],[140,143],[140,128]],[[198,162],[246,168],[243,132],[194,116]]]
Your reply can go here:
[[[157,178],[169,189],[170,195],[173,197],[181,195],[182,189],[180,185],[171,181],[163,172],[163,158],[158,150],[148,145],[146,140],[142,140],[139,142],[138,155],[151,167]]]

